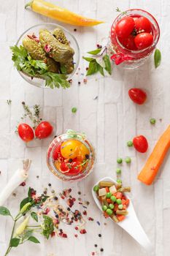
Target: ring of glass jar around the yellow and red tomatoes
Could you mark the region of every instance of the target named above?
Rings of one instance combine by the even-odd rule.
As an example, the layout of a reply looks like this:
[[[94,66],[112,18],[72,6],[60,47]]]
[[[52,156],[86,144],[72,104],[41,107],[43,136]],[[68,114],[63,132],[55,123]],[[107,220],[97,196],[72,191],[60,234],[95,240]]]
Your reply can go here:
[[[57,148],[61,143],[63,143],[66,140],[78,140],[86,148],[88,148],[88,151],[90,154],[88,155],[88,163],[87,165],[82,169],[80,173],[74,174],[74,175],[66,175],[61,170],[59,170],[55,165],[55,160],[53,159],[53,153],[55,151],[55,148]],[[59,179],[62,181],[80,181],[82,178],[87,177],[93,170],[93,165],[95,162],[95,152],[92,144],[86,139],[85,135],[82,135],[77,132],[67,132],[63,135],[59,135],[58,137],[54,138],[53,141],[50,143],[49,148],[47,149],[47,166],[49,170]],[[68,162],[69,163],[69,162]]]

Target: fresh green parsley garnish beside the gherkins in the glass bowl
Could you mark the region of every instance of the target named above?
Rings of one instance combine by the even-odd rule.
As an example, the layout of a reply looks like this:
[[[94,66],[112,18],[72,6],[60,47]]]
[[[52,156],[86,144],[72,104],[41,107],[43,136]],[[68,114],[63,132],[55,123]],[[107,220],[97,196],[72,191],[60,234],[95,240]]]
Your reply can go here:
[[[59,88],[60,86],[63,89],[69,88],[70,83],[66,80],[65,74],[57,74],[53,72],[48,72],[47,64],[44,61],[34,60],[29,56],[27,50],[20,45],[10,47],[12,50],[12,61],[14,61],[15,67],[24,72],[26,75],[31,76],[32,78],[42,78],[45,79],[45,86],[50,88]]]

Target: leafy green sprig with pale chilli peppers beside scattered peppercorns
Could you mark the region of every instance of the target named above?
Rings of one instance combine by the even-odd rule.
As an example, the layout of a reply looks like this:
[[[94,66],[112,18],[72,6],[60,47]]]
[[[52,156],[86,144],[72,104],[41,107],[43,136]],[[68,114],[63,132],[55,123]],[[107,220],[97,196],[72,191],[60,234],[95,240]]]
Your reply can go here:
[[[0,206],[0,215],[11,217],[13,220],[12,233],[9,238],[9,245],[4,256],[9,255],[9,252],[13,247],[18,247],[20,244],[24,244],[26,241],[30,241],[34,244],[39,244],[39,240],[33,236],[34,231],[41,233],[45,238],[49,238],[50,234],[53,233],[54,225],[53,219],[42,215],[42,223],[39,222],[39,217],[34,211],[38,206],[42,206],[43,203],[47,200],[47,196],[38,197],[38,200],[31,197],[32,189],[28,189],[28,197],[23,199],[20,203],[20,210],[16,217],[12,217],[9,209]],[[26,218],[18,225],[18,220],[26,216]],[[29,226],[29,218],[34,219],[34,221],[39,222],[39,225]]]

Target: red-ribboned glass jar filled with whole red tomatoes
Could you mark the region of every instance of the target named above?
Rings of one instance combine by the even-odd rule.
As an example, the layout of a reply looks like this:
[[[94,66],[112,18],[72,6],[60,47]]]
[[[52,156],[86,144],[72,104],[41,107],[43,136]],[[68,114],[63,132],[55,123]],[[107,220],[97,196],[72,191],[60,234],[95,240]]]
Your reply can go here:
[[[122,12],[112,24],[111,59],[124,68],[139,67],[150,57],[159,37],[158,23],[149,12],[139,9]]]

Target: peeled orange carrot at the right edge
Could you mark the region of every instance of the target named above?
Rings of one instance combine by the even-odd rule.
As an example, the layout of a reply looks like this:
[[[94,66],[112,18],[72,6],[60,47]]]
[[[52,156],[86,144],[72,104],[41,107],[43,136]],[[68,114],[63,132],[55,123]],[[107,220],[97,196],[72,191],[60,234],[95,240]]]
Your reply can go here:
[[[139,173],[138,179],[142,181],[144,184],[150,185],[152,181],[154,181],[155,176],[158,173],[159,168],[163,162],[164,157],[166,156],[166,152],[170,147],[170,125],[163,133],[161,138],[159,138],[158,142],[153,148],[150,157],[147,159],[146,164],[143,169]]]

